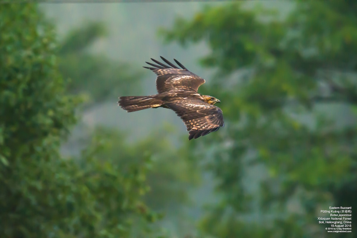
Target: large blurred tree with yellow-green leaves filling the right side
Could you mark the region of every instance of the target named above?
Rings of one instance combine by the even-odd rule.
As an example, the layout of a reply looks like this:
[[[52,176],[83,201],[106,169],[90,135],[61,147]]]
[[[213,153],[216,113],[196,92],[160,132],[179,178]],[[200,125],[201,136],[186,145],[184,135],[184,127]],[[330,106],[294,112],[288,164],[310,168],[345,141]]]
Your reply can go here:
[[[201,222],[213,236],[324,237],[321,209],[356,212],[357,3],[292,4],[286,18],[237,3],[206,7],[161,30],[182,45],[206,40],[202,63],[218,69],[210,92],[226,134],[201,144],[214,148],[202,157],[224,195]]]

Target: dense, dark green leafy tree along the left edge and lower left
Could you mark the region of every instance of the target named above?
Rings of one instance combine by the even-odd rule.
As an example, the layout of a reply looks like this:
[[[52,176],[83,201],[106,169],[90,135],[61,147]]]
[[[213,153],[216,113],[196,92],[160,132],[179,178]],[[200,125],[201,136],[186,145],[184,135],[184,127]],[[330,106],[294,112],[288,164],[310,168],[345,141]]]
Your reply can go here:
[[[0,31],[0,237],[129,237],[154,221],[151,144],[97,130],[80,158],[61,158],[81,100],[57,70],[54,29],[34,4],[0,4]]]

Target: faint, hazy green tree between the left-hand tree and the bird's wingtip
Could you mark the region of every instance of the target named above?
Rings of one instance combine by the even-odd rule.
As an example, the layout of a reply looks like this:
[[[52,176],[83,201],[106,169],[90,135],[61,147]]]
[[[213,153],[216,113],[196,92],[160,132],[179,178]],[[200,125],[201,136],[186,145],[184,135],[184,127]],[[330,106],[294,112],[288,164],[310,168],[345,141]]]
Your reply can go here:
[[[70,79],[69,91],[87,94],[91,104],[118,95],[140,93],[135,86],[142,78],[141,73],[132,70],[127,63],[90,52],[92,43],[105,35],[103,24],[89,22],[70,31],[60,43],[59,69],[65,79]]]

